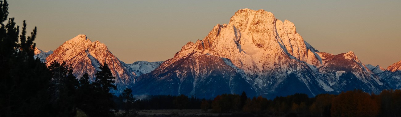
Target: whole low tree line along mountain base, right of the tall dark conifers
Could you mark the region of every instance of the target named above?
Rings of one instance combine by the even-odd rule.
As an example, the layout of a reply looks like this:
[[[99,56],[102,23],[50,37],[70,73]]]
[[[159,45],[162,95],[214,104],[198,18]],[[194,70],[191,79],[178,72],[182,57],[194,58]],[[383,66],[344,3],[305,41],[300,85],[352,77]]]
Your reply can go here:
[[[130,105],[128,108],[120,106],[119,109],[202,109],[210,113],[248,117],[401,117],[401,90],[383,90],[376,95],[355,89],[338,95],[320,94],[315,97],[296,93],[274,99],[247,97],[245,92],[241,95],[218,95],[214,99],[154,95],[133,99]]]

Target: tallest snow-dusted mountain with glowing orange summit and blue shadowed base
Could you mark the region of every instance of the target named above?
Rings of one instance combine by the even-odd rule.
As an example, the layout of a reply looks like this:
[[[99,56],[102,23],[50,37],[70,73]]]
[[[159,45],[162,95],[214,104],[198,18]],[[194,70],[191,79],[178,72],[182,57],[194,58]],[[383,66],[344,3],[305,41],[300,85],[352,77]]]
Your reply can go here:
[[[220,77],[210,76],[211,72],[221,70],[217,66],[224,67],[216,57],[221,58],[235,71],[225,72]],[[214,62],[205,62],[212,58]],[[178,64],[184,60],[186,63]],[[187,67],[187,64],[193,67]],[[207,67],[198,69],[202,65]],[[237,78],[237,74],[243,80],[222,80],[227,77]],[[229,24],[217,24],[203,40],[188,42],[173,58],[162,63],[150,75],[140,77],[137,83],[140,85],[134,86],[134,89],[144,92],[148,89],[146,87],[153,86],[152,83],[164,84],[171,81],[178,84],[190,82],[192,87],[203,83],[196,79],[207,79],[208,84],[227,83],[229,86],[247,83],[256,95],[266,97],[293,93],[314,96],[351,89],[378,92],[388,87],[353,52],[338,55],[319,52],[297,33],[292,22],[277,20],[271,12],[250,9],[238,10]],[[355,83],[358,85],[354,85]],[[166,87],[158,91],[149,92],[158,94],[176,91],[174,94],[185,95],[207,93],[202,95],[209,96],[215,94],[210,92],[219,92],[218,88],[202,92],[199,89],[202,87],[197,87],[199,90],[182,92],[180,87],[164,86]],[[218,85],[211,84],[210,87]]]

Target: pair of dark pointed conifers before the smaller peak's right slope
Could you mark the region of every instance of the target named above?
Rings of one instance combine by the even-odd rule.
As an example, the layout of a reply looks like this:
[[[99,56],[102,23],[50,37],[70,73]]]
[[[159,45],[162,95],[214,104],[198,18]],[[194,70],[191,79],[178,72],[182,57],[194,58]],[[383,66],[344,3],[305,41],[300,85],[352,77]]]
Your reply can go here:
[[[77,109],[82,110],[89,117],[111,117],[116,110],[113,93],[116,90],[111,70],[107,63],[99,67],[94,82],[89,81],[89,75],[84,74],[77,85]]]

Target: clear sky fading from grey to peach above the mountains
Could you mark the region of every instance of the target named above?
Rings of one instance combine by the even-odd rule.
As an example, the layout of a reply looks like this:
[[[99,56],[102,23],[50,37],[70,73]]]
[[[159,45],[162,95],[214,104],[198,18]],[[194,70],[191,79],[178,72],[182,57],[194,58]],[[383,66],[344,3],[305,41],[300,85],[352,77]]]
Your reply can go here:
[[[28,30],[42,50],[86,34],[125,63],[165,61],[187,42],[201,40],[216,24],[228,24],[243,8],[264,9],[294,22],[321,52],[353,51],[364,64],[401,60],[401,0],[8,0],[9,17]]]

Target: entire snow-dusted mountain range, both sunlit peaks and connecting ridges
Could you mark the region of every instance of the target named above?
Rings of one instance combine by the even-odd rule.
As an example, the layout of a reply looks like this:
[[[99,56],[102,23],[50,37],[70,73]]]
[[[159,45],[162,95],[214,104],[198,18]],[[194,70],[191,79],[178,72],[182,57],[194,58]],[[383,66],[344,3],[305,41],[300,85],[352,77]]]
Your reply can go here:
[[[320,52],[296,31],[294,23],[278,20],[265,10],[241,9],[228,24],[217,24],[202,40],[188,42],[164,62],[126,64],[105,44],[86,35],[68,40],[53,53],[35,49],[49,65],[67,62],[77,77],[107,63],[119,89],[136,95],[194,95],[211,98],[223,93],[276,96],[305,93],[337,94],[361,89],[379,93],[401,88],[401,61],[387,69],[365,65],[354,52]]]

